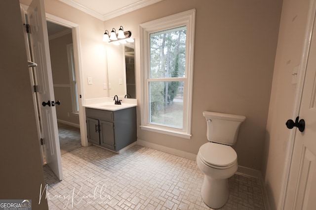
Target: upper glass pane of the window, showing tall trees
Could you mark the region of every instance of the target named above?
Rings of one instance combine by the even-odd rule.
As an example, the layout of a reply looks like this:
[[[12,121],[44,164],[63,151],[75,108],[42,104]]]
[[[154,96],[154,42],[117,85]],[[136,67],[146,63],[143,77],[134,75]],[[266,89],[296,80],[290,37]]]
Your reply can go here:
[[[185,77],[186,26],[150,34],[150,77]]]

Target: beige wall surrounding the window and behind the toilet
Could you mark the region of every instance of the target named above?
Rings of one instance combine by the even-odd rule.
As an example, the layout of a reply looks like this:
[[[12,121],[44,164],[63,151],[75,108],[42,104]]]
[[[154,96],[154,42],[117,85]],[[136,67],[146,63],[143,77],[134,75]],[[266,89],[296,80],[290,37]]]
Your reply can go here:
[[[141,130],[138,139],[197,154],[207,142],[205,110],[246,116],[237,144],[238,164],[261,169],[272,84],[280,0],[163,0],[106,21],[135,38],[137,98],[140,101],[139,24],[196,8],[192,138]],[[138,107],[138,125],[142,104]]]

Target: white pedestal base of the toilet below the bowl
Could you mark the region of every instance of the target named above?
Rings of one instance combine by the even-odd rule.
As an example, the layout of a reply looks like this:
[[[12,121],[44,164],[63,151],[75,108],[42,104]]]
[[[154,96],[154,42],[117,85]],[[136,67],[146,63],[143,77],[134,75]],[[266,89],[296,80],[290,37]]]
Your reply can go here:
[[[201,196],[208,207],[212,209],[223,207],[229,197],[228,179],[214,180],[204,175]]]

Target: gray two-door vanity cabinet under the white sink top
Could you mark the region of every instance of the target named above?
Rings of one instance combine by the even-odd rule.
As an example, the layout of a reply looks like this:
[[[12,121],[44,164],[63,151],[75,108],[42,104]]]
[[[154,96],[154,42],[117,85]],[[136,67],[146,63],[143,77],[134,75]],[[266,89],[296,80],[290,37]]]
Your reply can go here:
[[[137,140],[136,107],[107,111],[85,108],[88,142],[118,151]]]

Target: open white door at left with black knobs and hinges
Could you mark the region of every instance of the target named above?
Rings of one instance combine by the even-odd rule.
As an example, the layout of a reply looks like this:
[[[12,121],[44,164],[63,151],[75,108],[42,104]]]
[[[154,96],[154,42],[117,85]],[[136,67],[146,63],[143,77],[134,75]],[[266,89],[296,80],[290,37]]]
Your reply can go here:
[[[35,68],[38,84],[40,125],[42,138],[45,143],[46,162],[59,180],[62,180],[61,154],[44,0],[32,0],[27,14],[31,29],[30,38],[33,61],[38,64]]]

